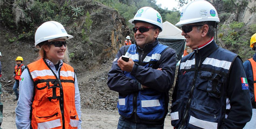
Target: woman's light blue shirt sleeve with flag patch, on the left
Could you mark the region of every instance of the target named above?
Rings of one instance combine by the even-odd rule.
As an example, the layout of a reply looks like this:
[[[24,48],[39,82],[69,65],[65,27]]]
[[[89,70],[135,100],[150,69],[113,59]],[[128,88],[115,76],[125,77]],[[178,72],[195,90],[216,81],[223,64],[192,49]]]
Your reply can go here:
[[[15,109],[17,128],[30,129],[30,109],[34,94],[34,84],[28,70],[25,69],[21,76],[23,81],[19,82],[19,100]]]

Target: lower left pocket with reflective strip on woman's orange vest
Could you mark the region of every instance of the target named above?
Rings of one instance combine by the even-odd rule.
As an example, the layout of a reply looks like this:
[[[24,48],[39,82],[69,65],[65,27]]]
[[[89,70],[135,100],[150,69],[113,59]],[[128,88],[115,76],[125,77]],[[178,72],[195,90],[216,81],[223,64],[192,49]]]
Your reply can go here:
[[[56,108],[50,111],[36,112],[35,115],[38,128],[55,128],[61,126],[61,114]]]

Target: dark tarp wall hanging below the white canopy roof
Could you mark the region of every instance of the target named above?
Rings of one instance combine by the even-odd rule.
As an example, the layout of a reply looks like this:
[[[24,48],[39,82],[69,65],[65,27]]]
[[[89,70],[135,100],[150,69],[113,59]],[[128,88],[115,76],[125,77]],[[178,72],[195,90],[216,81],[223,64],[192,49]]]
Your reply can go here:
[[[176,63],[181,60],[181,56],[183,55],[186,40],[184,39],[167,39],[167,38],[158,38],[160,44],[166,45],[174,49],[176,52]]]

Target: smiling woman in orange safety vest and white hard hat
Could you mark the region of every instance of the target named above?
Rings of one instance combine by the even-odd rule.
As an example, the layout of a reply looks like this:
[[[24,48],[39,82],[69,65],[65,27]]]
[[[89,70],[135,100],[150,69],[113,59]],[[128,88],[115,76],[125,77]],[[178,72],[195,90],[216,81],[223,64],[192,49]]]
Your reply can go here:
[[[66,40],[71,38],[56,21],[37,28],[39,57],[27,65],[19,82],[20,98],[15,109],[18,129],[81,129],[77,78],[74,68],[67,64]]]

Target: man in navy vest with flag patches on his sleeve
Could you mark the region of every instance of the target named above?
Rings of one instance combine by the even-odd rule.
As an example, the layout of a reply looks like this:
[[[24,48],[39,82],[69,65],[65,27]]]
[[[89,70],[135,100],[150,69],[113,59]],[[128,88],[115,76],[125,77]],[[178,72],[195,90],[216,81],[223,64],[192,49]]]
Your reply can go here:
[[[172,95],[175,128],[243,128],[250,121],[249,87],[240,57],[213,40],[219,17],[204,0],[181,11],[182,35],[194,49],[181,59]]]

